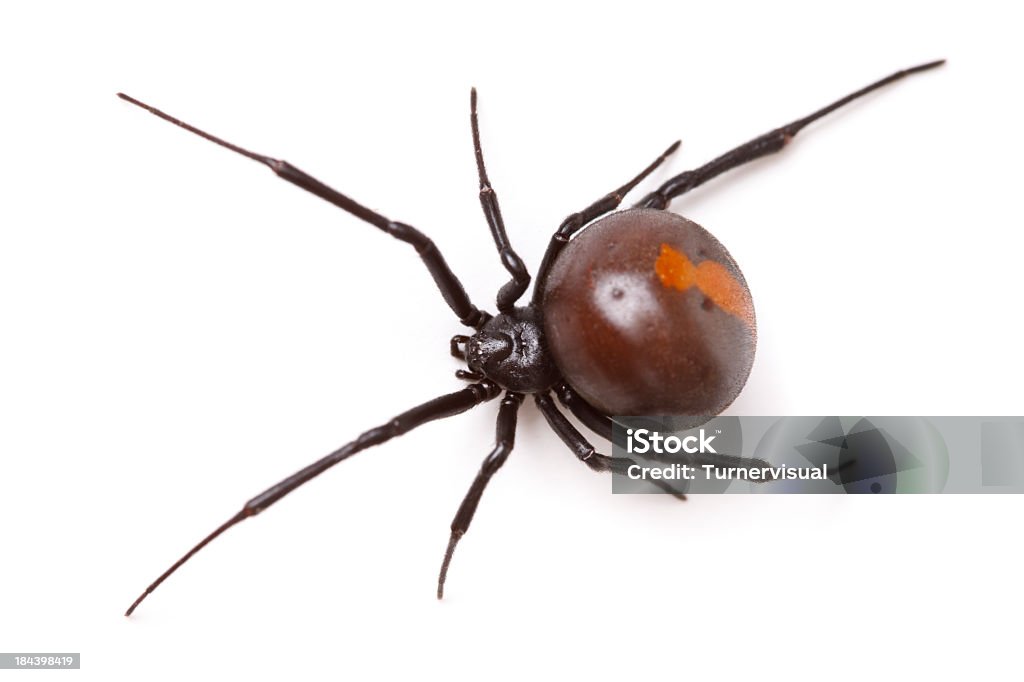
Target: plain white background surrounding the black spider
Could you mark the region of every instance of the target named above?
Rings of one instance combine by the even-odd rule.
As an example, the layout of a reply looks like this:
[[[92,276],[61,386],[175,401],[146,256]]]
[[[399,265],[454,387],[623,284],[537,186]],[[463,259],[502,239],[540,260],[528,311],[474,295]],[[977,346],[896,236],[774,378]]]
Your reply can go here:
[[[459,388],[462,328],[409,247],[115,92],[419,226],[493,308],[470,85],[536,268],[677,137],[644,189],[946,57],[672,208],[755,296],[730,414],[1020,415],[1019,20],[958,4],[5,10],[0,650],[104,680],[1019,675],[1020,498],[613,497],[528,402],[443,603],[495,404],[344,463],[122,616],[245,500]]]

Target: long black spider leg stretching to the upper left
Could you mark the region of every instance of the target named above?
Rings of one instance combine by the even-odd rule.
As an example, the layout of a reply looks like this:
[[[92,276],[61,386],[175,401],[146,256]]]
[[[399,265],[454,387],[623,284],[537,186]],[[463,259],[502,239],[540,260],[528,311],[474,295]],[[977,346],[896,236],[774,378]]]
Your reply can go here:
[[[459,278],[457,278],[455,272],[452,271],[452,268],[449,267],[449,264],[444,261],[444,257],[441,255],[440,251],[437,250],[437,246],[433,243],[433,241],[412,225],[407,225],[404,223],[395,222],[385,218],[383,215],[368,209],[366,206],[349,199],[340,191],[332,189],[328,185],[324,184],[316,178],[307,175],[287,161],[273,159],[271,157],[264,157],[263,155],[255,154],[236,144],[231,144],[230,142],[220,139],[219,137],[215,137],[208,132],[200,130],[195,126],[175,119],[159,109],[150,106],[134,97],[129,97],[124,93],[119,92],[118,96],[125,101],[129,101],[136,106],[140,106],[151,114],[173,123],[176,126],[184,128],[200,137],[208,139],[211,142],[230,150],[231,152],[241,154],[244,157],[263,164],[276,173],[279,177],[288,180],[296,186],[302,187],[306,191],[316,195],[321,199],[334,204],[343,211],[354,215],[356,218],[365,220],[366,222],[380,228],[391,237],[401,242],[406,242],[407,244],[411,244],[413,248],[416,249],[416,252],[420,254],[420,258],[423,259],[424,264],[430,271],[430,275],[433,278],[434,284],[437,285],[437,289],[444,298],[444,302],[447,303],[449,307],[451,307],[452,310],[459,316],[459,321],[462,324],[467,327],[479,329],[490,317],[490,315],[478,309],[472,304],[472,302],[470,302],[469,296],[466,294],[466,290],[463,288],[462,283],[459,282]]]

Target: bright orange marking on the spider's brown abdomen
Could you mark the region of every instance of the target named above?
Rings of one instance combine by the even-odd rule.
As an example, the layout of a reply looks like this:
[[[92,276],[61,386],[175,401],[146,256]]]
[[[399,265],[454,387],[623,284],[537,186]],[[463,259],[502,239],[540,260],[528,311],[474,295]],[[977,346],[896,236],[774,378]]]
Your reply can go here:
[[[654,273],[664,287],[686,291],[695,286],[715,305],[753,326],[754,305],[750,292],[721,263],[703,260],[694,265],[686,254],[663,244],[662,253],[654,261]]]

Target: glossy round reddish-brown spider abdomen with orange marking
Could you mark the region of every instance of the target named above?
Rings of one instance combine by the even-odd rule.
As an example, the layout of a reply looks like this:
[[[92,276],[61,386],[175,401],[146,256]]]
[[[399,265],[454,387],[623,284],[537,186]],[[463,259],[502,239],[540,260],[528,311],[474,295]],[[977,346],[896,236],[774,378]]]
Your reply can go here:
[[[667,211],[587,227],[552,266],[542,308],[555,364],[606,415],[717,415],[754,361],[742,273],[708,230]]]

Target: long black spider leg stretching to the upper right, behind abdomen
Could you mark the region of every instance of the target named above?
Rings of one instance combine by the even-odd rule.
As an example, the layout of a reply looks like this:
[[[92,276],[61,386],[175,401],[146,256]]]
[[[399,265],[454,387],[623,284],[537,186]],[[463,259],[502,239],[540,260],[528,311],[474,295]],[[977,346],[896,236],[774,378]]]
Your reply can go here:
[[[735,168],[736,166],[741,166],[750,161],[759,159],[763,156],[774,154],[779,152],[790,141],[796,136],[798,132],[803,130],[805,126],[814,121],[817,121],[826,114],[835,112],[840,106],[848,104],[849,102],[861,97],[872,90],[877,90],[885,85],[889,85],[893,81],[898,81],[904,76],[909,76],[910,74],[916,74],[922,71],[928,71],[929,69],[935,69],[941,65],[945,63],[945,59],[939,59],[938,61],[930,61],[928,63],[923,63],[911,69],[905,69],[903,71],[897,71],[891,76],[883,78],[881,81],[871,83],[870,85],[852,92],[842,99],[837,99],[833,103],[819,109],[809,116],[805,116],[802,119],[798,119],[793,123],[782,126],[781,128],[776,128],[770,132],[761,135],[760,137],[755,137],[744,144],[740,144],[736,148],[726,152],[717,159],[710,161],[709,163],[696,168],[694,170],[686,171],[680,173],[679,175],[669,179],[660,187],[650,193],[643,200],[637,204],[638,208],[654,208],[664,209],[669,205],[669,202],[674,198],[683,195],[694,187],[700,186],[713,177],[724,173],[727,170]]]

